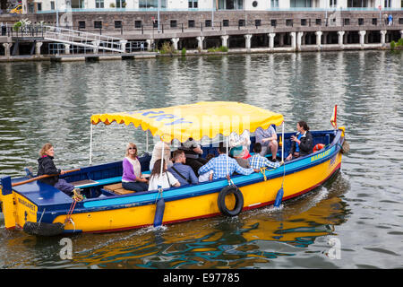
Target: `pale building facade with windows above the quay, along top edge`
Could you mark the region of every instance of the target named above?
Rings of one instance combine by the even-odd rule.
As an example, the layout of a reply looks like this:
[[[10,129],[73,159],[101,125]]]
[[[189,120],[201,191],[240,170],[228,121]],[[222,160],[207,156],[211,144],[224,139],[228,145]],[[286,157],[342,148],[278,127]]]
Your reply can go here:
[[[22,13],[107,11],[298,11],[401,9],[403,0],[22,0]]]

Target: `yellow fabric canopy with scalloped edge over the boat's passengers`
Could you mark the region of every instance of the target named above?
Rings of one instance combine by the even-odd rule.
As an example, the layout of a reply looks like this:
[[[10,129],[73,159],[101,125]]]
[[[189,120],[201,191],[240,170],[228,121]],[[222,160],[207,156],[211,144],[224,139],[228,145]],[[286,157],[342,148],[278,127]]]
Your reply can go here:
[[[133,112],[99,114],[91,116],[92,125],[116,122],[126,126],[141,126],[159,135],[164,142],[173,139],[181,143],[189,137],[200,141],[202,137],[240,135],[244,130],[253,133],[258,127],[280,126],[283,116],[248,104],[235,101],[201,101],[195,104],[161,109],[143,109]]]

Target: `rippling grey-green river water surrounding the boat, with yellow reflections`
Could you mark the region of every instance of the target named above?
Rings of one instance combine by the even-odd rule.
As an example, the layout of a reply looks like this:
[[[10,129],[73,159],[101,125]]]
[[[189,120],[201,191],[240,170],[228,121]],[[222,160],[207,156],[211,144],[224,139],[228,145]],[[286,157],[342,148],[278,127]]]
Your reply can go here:
[[[88,165],[90,115],[236,100],[330,129],[332,108],[350,152],[324,186],[281,209],[108,234],[60,238],[4,230],[0,268],[401,268],[403,53],[164,57],[99,63],[0,65],[0,174],[37,170],[43,143],[56,166]],[[121,160],[133,126],[94,126],[93,162]],[[333,243],[335,243],[335,245]]]

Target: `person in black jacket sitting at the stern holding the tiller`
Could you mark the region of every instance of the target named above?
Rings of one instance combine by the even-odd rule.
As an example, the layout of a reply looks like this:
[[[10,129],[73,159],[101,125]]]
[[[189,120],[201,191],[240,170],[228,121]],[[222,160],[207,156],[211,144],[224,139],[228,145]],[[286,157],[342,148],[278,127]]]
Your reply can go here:
[[[52,143],[45,143],[39,151],[40,158],[38,159],[39,167],[37,177],[42,175],[55,175],[49,178],[40,178],[39,181],[48,184],[49,186],[56,187],[60,191],[63,191],[67,196],[74,195],[74,186],[63,178],[59,178],[59,175],[65,173],[64,170],[59,170],[56,168],[55,162],[55,148]],[[75,189],[78,194],[79,189]]]

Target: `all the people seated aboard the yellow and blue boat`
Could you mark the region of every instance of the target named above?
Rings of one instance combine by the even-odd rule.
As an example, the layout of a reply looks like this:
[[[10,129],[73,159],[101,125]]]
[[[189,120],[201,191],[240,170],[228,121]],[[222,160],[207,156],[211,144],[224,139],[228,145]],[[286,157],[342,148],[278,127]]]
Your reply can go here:
[[[299,121],[296,129],[296,135],[291,136],[291,148],[286,161],[312,153],[313,150],[313,136],[309,132],[307,124]],[[128,143],[122,163],[122,187],[137,192],[156,190],[159,187],[166,189],[227,178],[227,175],[249,175],[253,172],[260,172],[262,168],[278,168],[280,162],[276,160],[276,155],[279,143],[273,126],[266,129],[259,127],[255,136],[256,143],[254,143],[252,154],[249,151],[250,134],[245,130],[241,135],[232,133],[229,136],[228,148],[224,146],[224,143],[219,143],[217,157],[209,153],[206,158],[201,157],[201,146],[193,138],[181,143],[181,146],[173,152],[172,158],[169,144],[159,142],[154,146],[151,155],[150,178],[148,174],[141,173],[141,162],[136,144]],[[164,149],[163,157],[161,157],[162,149]],[[47,143],[39,153],[38,176],[54,174],[54,177],[42,180],[59,188],[67,195],[72,195],[74,187],[57,176],[64,174],[64,170],[56,169],[53,162],[55,156],[53,146]],[[266,157],[267,155],[270,159]]]

